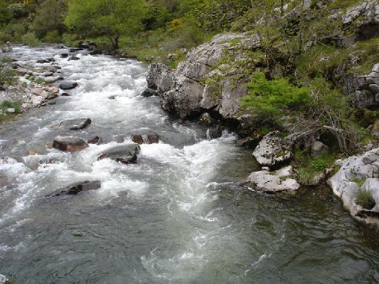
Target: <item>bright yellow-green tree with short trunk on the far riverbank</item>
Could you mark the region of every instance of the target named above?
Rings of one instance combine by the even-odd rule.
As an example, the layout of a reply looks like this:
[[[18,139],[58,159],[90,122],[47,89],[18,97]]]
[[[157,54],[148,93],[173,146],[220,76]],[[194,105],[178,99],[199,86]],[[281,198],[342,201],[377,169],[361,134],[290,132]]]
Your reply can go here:
[[[145,0],[71,0],[65,23],[84,37],[107,37],[118,49],[122,34],[143,29],[146,12]]]

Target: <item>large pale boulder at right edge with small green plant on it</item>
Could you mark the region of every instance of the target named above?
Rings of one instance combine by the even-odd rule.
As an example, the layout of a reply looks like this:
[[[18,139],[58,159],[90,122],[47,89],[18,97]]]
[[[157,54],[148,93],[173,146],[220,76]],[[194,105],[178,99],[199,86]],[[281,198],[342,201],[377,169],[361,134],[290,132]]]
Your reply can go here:
[[[350,156],[340,161],[340,170],[327,181],[344,207],[359,221],[378,227],[379,225],[379,148]],[[372,208],[357,204],[358,194],[368,192],[373,200]]]

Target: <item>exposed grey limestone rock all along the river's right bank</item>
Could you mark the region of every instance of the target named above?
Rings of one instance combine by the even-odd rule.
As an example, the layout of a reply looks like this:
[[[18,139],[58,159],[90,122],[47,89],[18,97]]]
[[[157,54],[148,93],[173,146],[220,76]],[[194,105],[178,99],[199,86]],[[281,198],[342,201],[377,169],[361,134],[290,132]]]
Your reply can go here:
[[[360,6],[347,10],[345,14],[337,11],[336,19],[342,21],[346,30],[354,25],[358,28],[354,29],[356,33],[353,37],[351,34],[341,37],[336,44],[347,48],[354,46],[361,37],[378,37],[377,30],[373,29],[379,25],[378,9],[375,1],[365,1]],[[289,15],[291,13],[294,14],[294,11]],[[313,44],[309,42],[309,48]],[[336,171],[328,180],[334,193],[342,199],[354,218],[370,225],[378,225],[379,156],[377,149],[372,150],[379,145],[378,127],[369,125],[369,142],[355,145],[354,151],[362,154],[351,156],[327,168],[321,165],[322,160],[318,158],[336,152],[337,142],[322,132],[311,135],[307,129],[298,132],[294,127],[294,119],[285,116],[280,118],[287,121],[282,128],[270,129],[268,134],[258,131],[259,125],[252,119],[254,113],[241,108],[241,99],[249,93],[247,83],[252,72],[265,68],[265,60],[265,49],[257,32],[218,34],[209,43],[190,50],[187,59],[179,63],[175,70],[163,63],[151,64],[147,74],[148,89],[144,95],[159,96],[163,110],[178,119],[198,120],[199,123],[209,125],[211,131],[215,128],[228,128],[236,132],[239,136],[237,144],[251,148],[252,155],[263,167],[262,171],[248,176],[243,184],[268,193],[296,192],[300,184],[308,186],[325,183]],[[329,58],[322,60],[327,61]],[[353,66],[350,68],[354,70],[354,63],[351,64]],[[335,81],[336,87],[341,88],[345,96],[351,98],[354,107],[362,112],[365,108],[375,110],[379,106],[379,62],[373,63],[371,69],[371,72],[364,75],[347,72],[346,65],[334,70],[338,72],[335,77],[338,78]],[[276,68],[266,71],[271,76],[284,74]],[[293,162],[299,151],[300,155],[306,153],[314,158],[314,168],[322,168],[315,170],[307,182],[296,181],[298,173],[303,170],[302,165]],[[354,179],[365,179],[365,183],[358,186],[352,181]],[[359,191],[368,192],[371,196],[372,207],[369,210],[358,205]]]

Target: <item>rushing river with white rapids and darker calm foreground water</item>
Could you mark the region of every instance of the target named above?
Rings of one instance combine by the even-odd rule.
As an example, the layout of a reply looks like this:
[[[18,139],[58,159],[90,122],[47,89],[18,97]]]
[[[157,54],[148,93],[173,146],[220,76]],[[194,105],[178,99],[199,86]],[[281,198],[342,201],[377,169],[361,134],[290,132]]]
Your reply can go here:
[[[198,125],[171,121],[158,98],[141,97],[141,63],[67,61],[65,51],[12,52],[19,61],[54,56],[79,87],[0,124],[0,274],[15,283],[379,281],[378,237],[329,190],[279,199],[234,187],[227,182],[258,169],[234,136],[208,141]],[[76,134],[99,135],[101,145],[52,149],[52,125],[87,117],[92,125]],[[161,142],[141,145],[135,165],[96,161],[117,135],[148,130]],[[101,189],[43,197],[85,180]]]

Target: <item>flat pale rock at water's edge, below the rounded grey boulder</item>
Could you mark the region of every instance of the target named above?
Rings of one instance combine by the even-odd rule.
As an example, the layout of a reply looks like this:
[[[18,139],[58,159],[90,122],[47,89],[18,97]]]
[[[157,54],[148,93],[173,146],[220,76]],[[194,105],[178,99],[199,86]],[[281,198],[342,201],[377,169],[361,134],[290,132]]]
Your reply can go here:
[[[261,170],[259,172],[252,172],[243,184],[267,193],[296,192],[300,188],[300,185],[296,180],[289,177],[292,174],[294,172],[291,165],[276,172]]]

